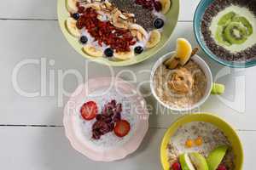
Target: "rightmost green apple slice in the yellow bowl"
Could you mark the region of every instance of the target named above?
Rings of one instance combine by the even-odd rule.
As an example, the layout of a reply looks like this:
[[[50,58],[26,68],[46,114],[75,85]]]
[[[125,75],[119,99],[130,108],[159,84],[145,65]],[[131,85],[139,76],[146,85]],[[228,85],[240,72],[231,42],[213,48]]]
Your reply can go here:
[[[218,146],[217,148],[210,152],[210,154],[207,157],[209,170],[216,170],[218,168],[218,165],[223,160],[228,148],[229,147],[227,145],[222,145]]]

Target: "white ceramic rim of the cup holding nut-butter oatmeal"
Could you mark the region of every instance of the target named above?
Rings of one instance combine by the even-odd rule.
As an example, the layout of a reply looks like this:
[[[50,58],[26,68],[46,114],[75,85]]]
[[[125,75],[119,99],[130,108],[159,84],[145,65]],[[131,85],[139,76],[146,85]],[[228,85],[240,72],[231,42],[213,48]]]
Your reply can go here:
[[[161,105],[163,105],[164,107],[166,107],[166,108],[168,108],[168,109],[170,109],[172,111],[191,111],[191,110],[201,106],[208,99],[209,95],[211,94],[212,83],[213,83],[212,82],[212,71],[210,70],[210,68],[207,65],[207,63],[203,59],[201,59],[201,57],[199,57],[198,55],[194,55],[191,59],[193,61],[195,61],[196,64],[200,65],[201,70],[205,73],[205,75],[207,77],[207,90],[206,90],[205,95],[195,105],[191,105],[190,107],[177,108],[177,107],[172,107],[172,105],[166,105],[163,101],[160,100],[160,98],[158,97],[158,95],[154,91],[154,73],[155,73],[156,69],[163,62],[165,62],[166,59],[169,59],[170,56],[172,56],[173,54],[175,54],[175,52],[171,52],[171,53],[165,54],[160,59],[158,59],[156,61],[156,63],[154,64],[154,66],[152,68],[152,71],[151,71],[151,76],[150,76],[151,92],[154,95],[154,98],[157,99],[157,101],[160,102]]]

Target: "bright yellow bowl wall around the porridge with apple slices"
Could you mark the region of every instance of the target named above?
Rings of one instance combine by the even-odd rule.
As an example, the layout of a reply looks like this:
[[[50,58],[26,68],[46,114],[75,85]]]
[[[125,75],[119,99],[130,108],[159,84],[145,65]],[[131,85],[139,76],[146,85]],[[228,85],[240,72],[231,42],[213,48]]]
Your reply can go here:
[[[224,120],[218,116],[214,116],[212,114],[207,114],[207,113],[197,113],[197,114],[182,116],[177,120],[177,122],[174,122],[172,126],[169,127],[168,130],[166,131],[165,136],[162,139],[161,148],[160,148],[160,159],[161,159],[161,163],[164,170],[170,169],[170,165],[168,163],[167,150],[166,150],[167,144],[169,143],[170,139],[172,139],[172,135],[177,131],[177,128],[189,122],[210,122],[216,127],[218,127],[219,129],[221,129],[224,132],[224,134],[227,136],[227,138],[230,140],[230,143],[234,149],[234,153],[236,156],[235,170],[242,169],[243,150],[242,150],[241,140],[239,139],[236,133],[236,130],[233,127],[231,127],[228,122],[224,122]]]

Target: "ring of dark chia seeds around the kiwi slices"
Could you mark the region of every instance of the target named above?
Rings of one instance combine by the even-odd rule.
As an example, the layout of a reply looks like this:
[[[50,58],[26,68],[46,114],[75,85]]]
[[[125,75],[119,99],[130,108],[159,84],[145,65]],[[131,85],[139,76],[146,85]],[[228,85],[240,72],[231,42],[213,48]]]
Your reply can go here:
[[[213,54],[220,59],[235,61],[235,62],[247,62],[256,59],[256,42],[251,48],[247,48],[237,53],[230,53],[226,48],[219,46],[212,38],[212,32],[210,31],[210,25],[214,16],[224,8],[229,7],[231,4],[238,5],[240,7],[248,8],[254,15],[256,15],[256,1],[255,0],[215,0],[207,8],[201,21],[201,33],[204,37],[204,41],[207,47]]]

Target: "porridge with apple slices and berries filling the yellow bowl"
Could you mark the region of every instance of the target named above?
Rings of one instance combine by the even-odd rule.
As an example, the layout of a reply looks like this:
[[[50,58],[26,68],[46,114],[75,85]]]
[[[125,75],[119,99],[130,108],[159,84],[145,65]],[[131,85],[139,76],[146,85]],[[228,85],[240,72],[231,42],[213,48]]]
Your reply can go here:
[[[189,170],[235,169],[235,155],[229,139],[209,122],[189,122],[178,127],[166,150],[172,170],[181,167],[189,167]]]

